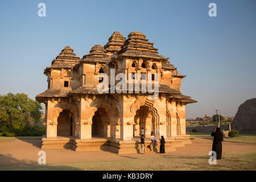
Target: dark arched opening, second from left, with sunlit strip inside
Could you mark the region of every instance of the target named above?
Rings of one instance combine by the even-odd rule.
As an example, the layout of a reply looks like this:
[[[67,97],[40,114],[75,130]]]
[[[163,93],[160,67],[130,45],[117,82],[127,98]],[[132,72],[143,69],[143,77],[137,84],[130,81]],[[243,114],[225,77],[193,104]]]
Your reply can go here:
[[[110,137],[110,119],[104,107],[98,107],[93,115],[92,137]]]

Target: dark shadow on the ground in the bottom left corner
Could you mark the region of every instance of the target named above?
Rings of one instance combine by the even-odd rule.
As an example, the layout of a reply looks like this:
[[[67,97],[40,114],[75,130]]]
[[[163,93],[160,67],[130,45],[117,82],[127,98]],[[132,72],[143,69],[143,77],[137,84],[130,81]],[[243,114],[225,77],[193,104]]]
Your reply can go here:
[[[49,166],[48,164],[39,165],[32,160],[18,160],[10,154],[0,154],[0,170],[1,171],[80,171],[80,168],[70,166]]]

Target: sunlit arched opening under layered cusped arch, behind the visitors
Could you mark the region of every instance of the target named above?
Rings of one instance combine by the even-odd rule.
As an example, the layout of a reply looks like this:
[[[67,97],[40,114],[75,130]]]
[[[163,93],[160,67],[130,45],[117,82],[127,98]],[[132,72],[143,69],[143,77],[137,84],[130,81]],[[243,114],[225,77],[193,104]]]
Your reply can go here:
[[[141,136],[142,127],[146,138],[150,138],[151,133],[156,135],[156,118],[147,106],[139,107],[134,116],[134,137]]]

